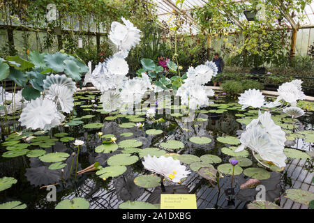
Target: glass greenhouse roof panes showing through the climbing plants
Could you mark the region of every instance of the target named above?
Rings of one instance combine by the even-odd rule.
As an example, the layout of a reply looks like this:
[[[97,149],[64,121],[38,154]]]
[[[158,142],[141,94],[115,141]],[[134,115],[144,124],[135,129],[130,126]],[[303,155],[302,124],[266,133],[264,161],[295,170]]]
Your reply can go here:
[[[170,22],[171,18],[174,17],[175,12],[180,13],[180,9],[176,6],[177,0],[154,0],[157,9],[158,20],[160,22]],[[237,3],[249,4],[248,1],[245,0],[234,0]],[[207,3],[207,0],[185,0],[182,7],[181,12],[186,12],[186,16],[184,16],[184,20],[186,21],[183,27],[183,31],[187,33],[197,33],[197,25],[193,20],[193,17],[190,15],[190,11],[195,7],[204,6]],[[292,13],[290,13],[291,15]],[[241,15],[239,21],[246,20],[246,17]],[[294,11],[294,16],[292,17],[292,21],[289,22],[287,18],[285,19],[287,24],[290,22],[293,24],[299,24],[299,28],[314,28],[314,1],[306,5],[302,13],[298,13]],[[291,24],[290,23],[290,24]]]

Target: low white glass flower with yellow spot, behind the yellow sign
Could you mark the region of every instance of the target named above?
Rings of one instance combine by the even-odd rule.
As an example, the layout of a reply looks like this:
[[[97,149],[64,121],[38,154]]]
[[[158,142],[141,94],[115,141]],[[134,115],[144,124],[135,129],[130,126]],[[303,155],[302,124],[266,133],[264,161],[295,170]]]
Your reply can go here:
[[[160,157],[147,155],[142,164],[145,169],[160,174],[174,183],[180,183],[182,178],[186,178],[190,174],[190,171],[186,171],[186,166],[181,165],[179,160],[163,155]]]

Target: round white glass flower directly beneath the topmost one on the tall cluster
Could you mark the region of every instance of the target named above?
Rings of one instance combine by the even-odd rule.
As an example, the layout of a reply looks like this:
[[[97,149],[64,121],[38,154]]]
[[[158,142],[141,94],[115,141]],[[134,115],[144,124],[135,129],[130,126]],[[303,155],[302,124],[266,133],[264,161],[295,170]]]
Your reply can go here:
[[[128,63],[120,56],[111,56],[105,62],[107,71],[113,75],[125,76],[128,74]]]

